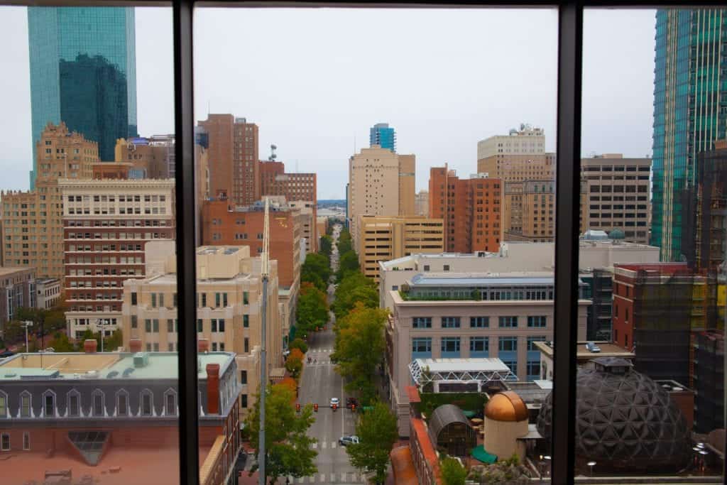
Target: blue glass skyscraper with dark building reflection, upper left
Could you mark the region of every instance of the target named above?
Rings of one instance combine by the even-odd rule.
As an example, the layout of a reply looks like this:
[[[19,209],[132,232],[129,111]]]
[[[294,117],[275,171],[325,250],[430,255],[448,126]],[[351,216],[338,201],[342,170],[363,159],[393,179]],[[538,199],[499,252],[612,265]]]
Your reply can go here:
[[[28,7],[33,172],[48,122],[63,121],[113,161],[117,138],[137,135],[136,44],[131,7]]]

